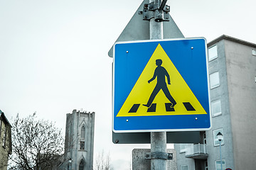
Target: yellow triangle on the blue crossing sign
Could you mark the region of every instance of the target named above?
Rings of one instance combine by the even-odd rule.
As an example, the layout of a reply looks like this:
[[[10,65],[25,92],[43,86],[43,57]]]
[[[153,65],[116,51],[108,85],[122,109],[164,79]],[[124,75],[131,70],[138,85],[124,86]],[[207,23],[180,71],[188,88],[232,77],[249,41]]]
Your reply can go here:
[[[161,60],[161,67],[164,67],[169,74],[171,84],[168,84],[168,79],[164,76],[164,79],[167,84],[167,88],[171,94],[171,96],[176,101],[176,105],[174,108],[171,108],[172,111],[166,111],[166,103],[171,103],[169,99],[164,94],[164,91],[160,89],[160,91],[156,94],[154,101],[151,106],[154,105],[154,111],[149,111],[151,107],[143,106],[146,105],[149,101],[149,97],[151,96],[152,91],[156,87],[156,83],[158,78],[156,77],[152,80],[154,76],[154,72],[156,69],[156,60]],[[149,79],[151,82],[149,83]],[[185,107],[184,103],[189,103],[193,109],[188,109]],[[135,111],[131,112],[133,106],[135,107]],[[170,105],[169,105],[170,106]],[[178,72],[174,64],[171,62],[166,52],[159,44],[156,47],[153,55],[149,59],[149,62],[146,64],[142,74],[139,76],[136,84],[132,88],[132,91],[129,93],[126,101],[122,105],[122,108],[117,113],[117,117],[121,116],[149,116],[149,115],[199,115],[199,114],[207,114],[206,111],[201,106],[201,103],[198,101],[196,96],[193,94],[189,86],[184,81],[181,74]]]

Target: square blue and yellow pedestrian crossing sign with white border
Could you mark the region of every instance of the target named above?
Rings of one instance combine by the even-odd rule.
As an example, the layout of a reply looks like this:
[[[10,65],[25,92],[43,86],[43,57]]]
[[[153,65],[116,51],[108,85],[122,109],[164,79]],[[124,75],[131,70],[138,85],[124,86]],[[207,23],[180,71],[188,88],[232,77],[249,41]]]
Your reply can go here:
[[[204,38],[114,45],[113,131],[210,129]]]

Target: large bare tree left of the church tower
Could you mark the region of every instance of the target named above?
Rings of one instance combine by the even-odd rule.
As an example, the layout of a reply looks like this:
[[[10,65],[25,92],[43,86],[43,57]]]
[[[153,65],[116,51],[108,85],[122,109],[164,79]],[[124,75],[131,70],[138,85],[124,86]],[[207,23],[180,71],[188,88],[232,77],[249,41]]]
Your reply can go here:
[[[36,113],[12,123],[11,165],[9,169],[50,170],[58,164],[63,154],[64,139],[55,123],[38,120]]]

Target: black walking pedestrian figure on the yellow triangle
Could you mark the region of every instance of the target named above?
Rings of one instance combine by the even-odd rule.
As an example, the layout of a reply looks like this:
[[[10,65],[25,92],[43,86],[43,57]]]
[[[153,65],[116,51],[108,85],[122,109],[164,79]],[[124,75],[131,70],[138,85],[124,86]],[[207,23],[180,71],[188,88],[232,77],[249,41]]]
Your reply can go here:
[[[150,83],[157,77],[156,87],[154,88],[152,94],[150,95],[149,101],[143,105],[148,108],[151,106],[152,102],[154,101],[154,98],[156,97],[156,94],[158,94],[161,89],[164,92],[166,98],[168,98],[169,101],[171,101],[171,103],[172,103],[171,107],[173,108],[176,105],[176,101],[171,96],[170,91],[166,85],[165,77],[167,77],[168,84],[171,84],[170,76],[169,76],[168,72],[166,71],[166,69],[164,67],[161,67],[161,64],[162,64],[162,60],[160,60],[160,59],[156,60],[157,67],[154,71],[154,76],[148,81]]]

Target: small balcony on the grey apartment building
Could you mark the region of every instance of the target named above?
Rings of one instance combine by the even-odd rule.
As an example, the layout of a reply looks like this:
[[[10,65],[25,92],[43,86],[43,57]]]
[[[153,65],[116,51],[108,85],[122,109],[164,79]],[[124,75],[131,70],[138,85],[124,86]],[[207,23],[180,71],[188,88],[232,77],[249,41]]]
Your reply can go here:
[[[207,157],[205,144],[194,144],[186,148],[186,158],[207,159]]]

